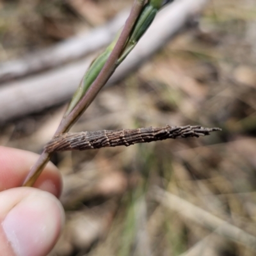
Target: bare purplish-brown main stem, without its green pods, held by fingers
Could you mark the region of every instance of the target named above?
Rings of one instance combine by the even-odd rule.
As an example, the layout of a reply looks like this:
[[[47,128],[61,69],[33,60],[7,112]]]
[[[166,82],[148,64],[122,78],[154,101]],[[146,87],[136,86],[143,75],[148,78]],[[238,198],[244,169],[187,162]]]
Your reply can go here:
[[[92,103],[93,99],[96,97],[99,90],[104,86],[106,81],[108,81],[109,77],[116,68],[116,61],[120,56],[122,49],[124,48],[125,42],[129,37],[131,30],[136,22],[136,19],[140,15],[141,9],[143,8],[144,0],[135,0],[132,6],[131,13],[125,23],[124,29],[116,42],[115,48],[111,52],[108,60],[106,61],[104,67],[100,71],[99,76],[95,79],[92,83],[86,94],[84,95],[83,99],[77,104],[76,108],[61,121],[60,126],[58,127],[57,131],[55,132],[55,136],[57,134],[61,134],[63,132],[67,132],[70,129],[71,125],[76,122],[79,116],[82,115],[83,111],[88,108],[88,106]],[[24,181],[23,186],[33,186],[36,179],[44,170],[45,165],[49,162],[51,158],[51,154],[49,154],[46,150],[44,150],[39,157],[38,161],[36,161],[35,165],[31,168],[26,180]]]

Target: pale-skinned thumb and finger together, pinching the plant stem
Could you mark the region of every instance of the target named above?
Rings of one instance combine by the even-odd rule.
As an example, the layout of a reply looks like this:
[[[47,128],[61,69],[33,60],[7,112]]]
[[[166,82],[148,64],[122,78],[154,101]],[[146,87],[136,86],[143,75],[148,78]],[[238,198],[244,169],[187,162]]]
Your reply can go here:
[[[49,163],[34,188],[20,188],[38,155],[0,147],[0,252],[5,256],[44,256],[53,248],[65,220],[58,200],[60,172]]]

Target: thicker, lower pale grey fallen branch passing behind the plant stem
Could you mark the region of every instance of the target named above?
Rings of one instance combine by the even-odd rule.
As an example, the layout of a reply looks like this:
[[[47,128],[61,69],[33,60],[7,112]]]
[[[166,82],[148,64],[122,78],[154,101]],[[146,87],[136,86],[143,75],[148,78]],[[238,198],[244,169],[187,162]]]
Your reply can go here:
[[[200,13],[209,0],[180,0],[166,6],[108,84],[123,79],[176,35]],[[3,84],[0,88],[0,124],[56,106],[72,97],[90,60],[67,65],[38,76]]]

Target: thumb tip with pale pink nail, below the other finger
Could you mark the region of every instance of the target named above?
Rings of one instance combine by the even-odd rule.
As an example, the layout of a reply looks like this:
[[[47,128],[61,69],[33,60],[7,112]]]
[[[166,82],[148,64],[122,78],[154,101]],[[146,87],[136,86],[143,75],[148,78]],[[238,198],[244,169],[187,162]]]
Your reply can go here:
[[[65,220],[55,196],[34,188],[14,188],[1,193],[0,205],[2,232],[17,255],[46,255],[51,250]]]

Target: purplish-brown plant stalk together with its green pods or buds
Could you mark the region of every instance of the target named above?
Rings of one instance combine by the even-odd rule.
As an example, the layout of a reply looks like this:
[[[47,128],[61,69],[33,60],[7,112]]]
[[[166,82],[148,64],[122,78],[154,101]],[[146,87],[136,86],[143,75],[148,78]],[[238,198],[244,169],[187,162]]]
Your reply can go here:
[[[145,4],[145,0],[134,1],[131,13],[118,40],[115,39],[88,68],[54,134],[54,138],[69,131],[70,127],[90,106],[116,67],[127,57],[141,36],[147,31],[161,6],[172,1],[149,0],[147,4]],[[23,186],[33,186],[50,158],[51,152],[44,150],[38,161],[31,168]]]

